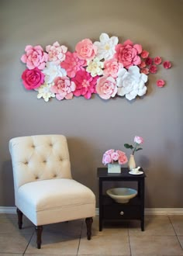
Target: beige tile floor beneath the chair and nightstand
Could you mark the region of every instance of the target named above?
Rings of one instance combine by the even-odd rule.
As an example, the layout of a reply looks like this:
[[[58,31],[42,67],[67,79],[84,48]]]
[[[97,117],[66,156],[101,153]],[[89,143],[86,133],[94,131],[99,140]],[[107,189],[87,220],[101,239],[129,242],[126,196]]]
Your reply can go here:
[[[0,214],[0,256],[111,255],[178,256],[183,255],[183,216],[146,216],[145,231],[140,222],[105,223],[98,231],[98,216],[86,239],[83,220],[57,223],[43,228],[42,248],[36,249],[32,223],[25,217],[17,227],[16,214]]]

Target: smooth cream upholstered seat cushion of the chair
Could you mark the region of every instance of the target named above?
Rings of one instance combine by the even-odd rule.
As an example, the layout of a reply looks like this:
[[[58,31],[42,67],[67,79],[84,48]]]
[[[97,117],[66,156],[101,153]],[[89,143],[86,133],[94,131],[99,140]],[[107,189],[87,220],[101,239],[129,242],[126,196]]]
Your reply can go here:
[[[35,225],[95,216],[94,193],[73,179],[29,182],[17,195],[16,206]]]

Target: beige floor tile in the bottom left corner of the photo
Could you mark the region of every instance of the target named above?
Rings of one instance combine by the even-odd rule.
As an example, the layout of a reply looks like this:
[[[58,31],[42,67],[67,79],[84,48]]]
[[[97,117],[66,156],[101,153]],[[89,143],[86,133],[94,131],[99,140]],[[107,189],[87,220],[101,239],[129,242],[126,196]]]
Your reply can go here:
[[[22,254],[31,236],[31,234],[0,234],[0,252]]]

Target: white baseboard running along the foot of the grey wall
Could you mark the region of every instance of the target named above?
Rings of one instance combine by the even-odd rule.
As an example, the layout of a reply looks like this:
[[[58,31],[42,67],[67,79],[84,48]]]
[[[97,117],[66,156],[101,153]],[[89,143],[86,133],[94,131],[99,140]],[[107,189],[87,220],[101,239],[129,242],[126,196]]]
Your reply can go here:
[[[0,206],[0,213],[16,213],[16,207]],[[98,208],[96,215],[99,215]],[[183,215],[183,208],[146,208],[145,215]]]

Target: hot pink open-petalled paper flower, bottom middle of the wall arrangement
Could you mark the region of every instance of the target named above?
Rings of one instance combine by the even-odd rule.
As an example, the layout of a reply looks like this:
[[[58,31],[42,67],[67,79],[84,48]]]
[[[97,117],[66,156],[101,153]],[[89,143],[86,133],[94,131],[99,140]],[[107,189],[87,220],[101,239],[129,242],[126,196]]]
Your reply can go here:
[[[85,99],[90,99],[92,93],[96,93],[95,86],[98,76],[91,77],[87,71],[78,71],[74,78],[71,78],[76,85],[74,95],[84,96]]]

